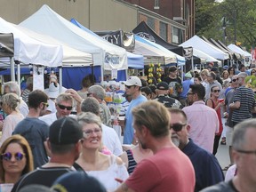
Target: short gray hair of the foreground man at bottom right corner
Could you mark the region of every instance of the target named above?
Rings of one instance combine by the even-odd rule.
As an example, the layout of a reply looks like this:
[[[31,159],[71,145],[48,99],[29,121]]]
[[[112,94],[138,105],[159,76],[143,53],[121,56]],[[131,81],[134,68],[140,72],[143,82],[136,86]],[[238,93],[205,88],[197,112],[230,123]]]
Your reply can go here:
[[[247,119],[240,124],[236,124],[232,138],[232,147],[234,149],[244,148],[244,144],[246,143],[245,133],[248,129],[256,129],[256,119]]]

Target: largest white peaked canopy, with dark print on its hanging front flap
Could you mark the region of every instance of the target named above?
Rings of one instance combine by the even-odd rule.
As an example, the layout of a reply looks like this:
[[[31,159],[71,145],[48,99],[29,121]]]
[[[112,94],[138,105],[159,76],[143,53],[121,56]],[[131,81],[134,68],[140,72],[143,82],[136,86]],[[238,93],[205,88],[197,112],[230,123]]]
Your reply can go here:
[[[76,27],[45,4],[27,20],[23,20],[20,26],[52,36],[82,52],[91,53],[93,65],[101,66],[102,72],[103,68],[109,70],[128,68],[127,54],[123,48]]]

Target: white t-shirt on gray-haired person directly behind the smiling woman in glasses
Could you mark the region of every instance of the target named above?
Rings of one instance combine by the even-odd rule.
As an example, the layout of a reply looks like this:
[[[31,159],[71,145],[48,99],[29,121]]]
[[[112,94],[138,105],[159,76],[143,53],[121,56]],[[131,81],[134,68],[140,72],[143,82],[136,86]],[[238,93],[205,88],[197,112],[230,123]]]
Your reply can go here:
[[[123,154],[123,149],[116,131],[105,124],[101,124],[101,126],[103,145],[106,146],[114,155],[121,156]]]

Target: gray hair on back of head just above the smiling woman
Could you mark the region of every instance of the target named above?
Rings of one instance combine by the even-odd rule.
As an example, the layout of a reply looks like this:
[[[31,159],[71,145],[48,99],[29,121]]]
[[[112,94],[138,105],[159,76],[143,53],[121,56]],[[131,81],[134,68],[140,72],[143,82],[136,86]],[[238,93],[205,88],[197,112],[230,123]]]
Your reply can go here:
[[[100,114],[100,103],[93,97],[88,97],[81,104],[82,112],[91,112],[97,116]]]

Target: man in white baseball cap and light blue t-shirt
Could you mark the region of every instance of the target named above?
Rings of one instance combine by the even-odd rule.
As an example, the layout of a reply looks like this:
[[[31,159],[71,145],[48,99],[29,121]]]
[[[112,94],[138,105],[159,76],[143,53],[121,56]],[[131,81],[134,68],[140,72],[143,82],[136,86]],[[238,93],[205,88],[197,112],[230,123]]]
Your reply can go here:
[[[132,108],[138,106],[142,102],[146,102],[147,98],[141,95],[140,88],[142,86],[140,78],[138,76],[130,76],[125,84],[125,92],[127,95],[132,96],[132,101],[127,108],[125,114],[125,127],[124,127],[124,144],[132,144],[134,129],[132,126],[133,117],[132,117]]]

